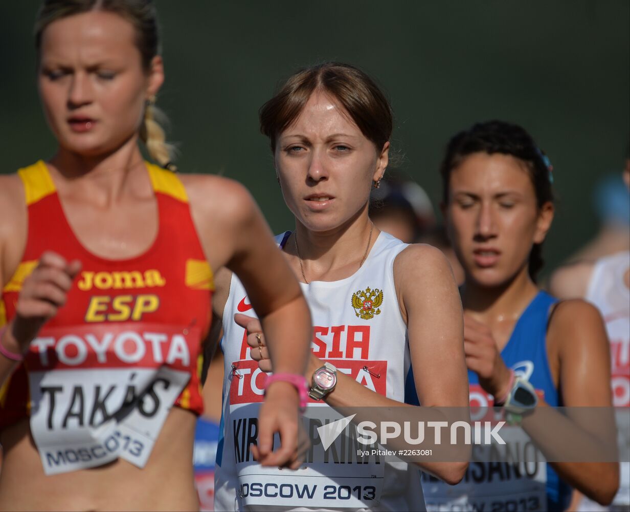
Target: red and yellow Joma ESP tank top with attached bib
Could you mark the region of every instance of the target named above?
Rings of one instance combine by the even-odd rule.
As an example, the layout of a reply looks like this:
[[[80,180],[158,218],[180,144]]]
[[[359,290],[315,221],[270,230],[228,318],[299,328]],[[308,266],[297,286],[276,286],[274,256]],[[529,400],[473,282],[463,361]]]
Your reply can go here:
[[[146,252],[125,260],[81,245],[43,161],[18,170],[28,238],[3,289],[0,326],[15,315],[43,252],[83,264],[66,305],[0,390],[0,429],[30,417],[47,474],[118,457],[142,467],[173,404],[203,410],[200,342],[210,327],[212,271],[179,178],[146,166],[159,228]]]

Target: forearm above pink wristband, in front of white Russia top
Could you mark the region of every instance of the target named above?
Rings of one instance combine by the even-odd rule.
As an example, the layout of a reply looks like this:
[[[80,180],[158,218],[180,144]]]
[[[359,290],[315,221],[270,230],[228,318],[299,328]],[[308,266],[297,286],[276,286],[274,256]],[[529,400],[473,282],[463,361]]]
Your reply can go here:
[[[312,327],[302,295],[260,320],[274,373],[303,374],[311,353]]]

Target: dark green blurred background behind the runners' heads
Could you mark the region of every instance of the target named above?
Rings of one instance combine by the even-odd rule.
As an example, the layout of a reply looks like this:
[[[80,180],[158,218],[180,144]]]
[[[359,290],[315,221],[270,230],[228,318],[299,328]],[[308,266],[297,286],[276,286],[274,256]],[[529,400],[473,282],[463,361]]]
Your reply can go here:
[[[0,137],[13,172],[55,141],[35,87],[39,2],[0,3]],[[377,79],[396,116],[399,170],[437,205],[452,134],[478,120],[524,125],[554,165],[559,207],[547,271],[597,230],[592,190],[621,172],[630,136],[630,2],[157,0],[166,84],[158,105],[182,172],[245,183],[274,231],[292,228],[258,108],[282,78],[321,61]]]

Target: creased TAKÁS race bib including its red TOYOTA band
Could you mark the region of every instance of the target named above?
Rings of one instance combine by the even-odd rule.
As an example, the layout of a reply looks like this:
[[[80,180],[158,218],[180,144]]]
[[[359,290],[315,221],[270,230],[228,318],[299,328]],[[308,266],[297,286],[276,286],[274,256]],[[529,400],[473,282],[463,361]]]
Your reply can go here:
[[[42,330],[25,364],[45,474],[118,457],[144,467],[196,371],[199,339],[198,329],[149,323]]]

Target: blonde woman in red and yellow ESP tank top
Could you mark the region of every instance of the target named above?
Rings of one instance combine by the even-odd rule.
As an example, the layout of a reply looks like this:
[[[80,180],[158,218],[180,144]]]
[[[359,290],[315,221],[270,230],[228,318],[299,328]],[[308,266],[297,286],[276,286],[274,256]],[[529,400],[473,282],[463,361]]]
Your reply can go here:
[[[143,161],[139,138],[169,161],[151,3],[49,0],[36,32],[59,146],[0,177],[0,509],[198,508],[198,355],[224,265],[287,374],[268,387],[259,460],[294,467],[307,306],[241,185]]]

